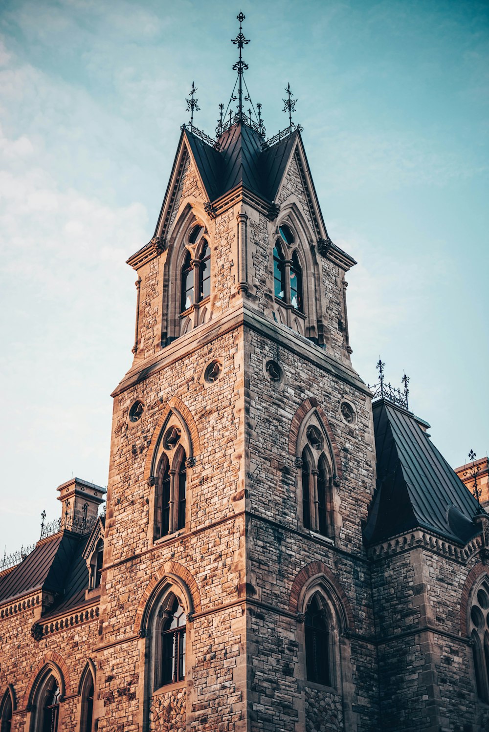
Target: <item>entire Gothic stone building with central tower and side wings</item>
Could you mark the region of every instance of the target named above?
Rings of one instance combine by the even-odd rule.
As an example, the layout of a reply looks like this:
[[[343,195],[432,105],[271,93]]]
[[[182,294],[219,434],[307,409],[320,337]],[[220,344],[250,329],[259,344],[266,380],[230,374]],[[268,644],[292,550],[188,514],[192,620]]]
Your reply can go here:
[[[184,127],[128,262],[106,513],[59,486],[0,574],[1,732],[487,729],[485,518],[351,365],[299,128]]]

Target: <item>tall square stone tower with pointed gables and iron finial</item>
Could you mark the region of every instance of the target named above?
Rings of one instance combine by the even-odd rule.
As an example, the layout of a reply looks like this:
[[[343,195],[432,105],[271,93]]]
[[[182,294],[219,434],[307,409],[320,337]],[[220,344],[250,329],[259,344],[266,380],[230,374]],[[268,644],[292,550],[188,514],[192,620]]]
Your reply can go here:
[[[300,732],[326,710],[328,729],[378,728],[355,263],[329,239],[300,128],[266,143],[241,102],[217,141],[183,128],[154,237],[128,260],[99,730]]]

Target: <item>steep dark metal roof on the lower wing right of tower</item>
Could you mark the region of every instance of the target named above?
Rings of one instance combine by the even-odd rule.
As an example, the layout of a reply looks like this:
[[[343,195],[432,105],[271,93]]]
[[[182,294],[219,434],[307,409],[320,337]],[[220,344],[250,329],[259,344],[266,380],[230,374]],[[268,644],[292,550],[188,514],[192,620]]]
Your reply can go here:
[[[477,501],[410,412],[373,403],[377,488],[364,537],[387,539],[417,526],[462,544],[479,532]]]

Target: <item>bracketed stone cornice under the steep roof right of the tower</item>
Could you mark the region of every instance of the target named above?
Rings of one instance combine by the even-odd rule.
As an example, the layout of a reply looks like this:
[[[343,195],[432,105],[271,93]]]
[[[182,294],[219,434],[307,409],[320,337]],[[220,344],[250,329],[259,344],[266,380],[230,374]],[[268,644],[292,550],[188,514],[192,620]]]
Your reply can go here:
[[[480,536],[476,536],[466,545],[461,545],[426,529],[417,528],[370,546],[367,549],[367,556],[371,561],[378,561],[394,554],[419,548],[447,556],[449,559],[465,565],[471,556],[482,548],[482,539]]]

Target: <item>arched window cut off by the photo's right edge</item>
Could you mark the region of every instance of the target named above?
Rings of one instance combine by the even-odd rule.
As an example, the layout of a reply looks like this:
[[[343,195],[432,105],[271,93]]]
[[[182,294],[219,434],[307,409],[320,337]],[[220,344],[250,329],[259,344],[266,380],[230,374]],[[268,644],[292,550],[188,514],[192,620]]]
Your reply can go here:
[[[469,627],[477,696],[489,702],[489,578],[485,577],[474,589]]]

